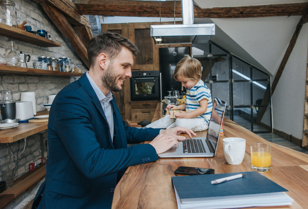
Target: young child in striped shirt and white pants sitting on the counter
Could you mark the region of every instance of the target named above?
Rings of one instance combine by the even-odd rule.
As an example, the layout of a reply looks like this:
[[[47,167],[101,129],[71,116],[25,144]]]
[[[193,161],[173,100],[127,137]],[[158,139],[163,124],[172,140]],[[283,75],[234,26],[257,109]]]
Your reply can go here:
[[[179,106],[168,105],[171,110],[179,110],[176,118],[169,115],[147,125],[148,128],[187,127],[192,131],[204,131],[209,128],[212,113],[212,96],[209,88],[201,80],[201,63],[184,55],[174,70],[174,79],[187,88],[186,103]],[[186,111],[186,112],[184,112]]]

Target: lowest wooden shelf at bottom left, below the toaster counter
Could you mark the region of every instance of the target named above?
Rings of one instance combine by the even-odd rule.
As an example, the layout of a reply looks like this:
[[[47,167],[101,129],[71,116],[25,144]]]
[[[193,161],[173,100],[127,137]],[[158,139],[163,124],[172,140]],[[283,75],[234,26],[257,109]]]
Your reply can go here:
[[[28,171],[18,179],[15,179],[13,187],[7,188],[5,191],[0,193],[0,209],[5,207],[8,203],[18,197],[22,192],[26,191],[45,175],[46,163],[43,163],[35,170]]]

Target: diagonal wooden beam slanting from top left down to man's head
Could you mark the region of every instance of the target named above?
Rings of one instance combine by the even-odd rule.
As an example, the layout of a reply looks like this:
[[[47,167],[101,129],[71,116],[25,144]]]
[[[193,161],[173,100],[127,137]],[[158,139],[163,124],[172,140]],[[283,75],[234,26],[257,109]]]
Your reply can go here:
[[[41,5],[48,17],[57,26],[57,28],[61,31],[64,37],[70,42],[71,46],[74,48],[82,61],[87,65],[87,67],[90,67],[87,55],[87,48],[84,46],[83,42],[80,40],[75,30],[64,17],[62,12],[47,3],[41,3]]]

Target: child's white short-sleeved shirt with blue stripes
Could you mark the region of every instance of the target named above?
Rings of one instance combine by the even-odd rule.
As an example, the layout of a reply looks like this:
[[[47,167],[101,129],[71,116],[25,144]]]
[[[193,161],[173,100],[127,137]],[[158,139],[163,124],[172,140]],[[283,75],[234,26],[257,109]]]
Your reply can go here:
[[[187,89],[186,92],[186,112],[191,112],[200,107],[199,101],[206,98],[208,100],[208,108],[205,113],[197,116],[197,118],[204,119],[207,124],[211,119],[211,113],[213,108],[212,95],[209,88],[200,80],[196,86],[191,89]]]

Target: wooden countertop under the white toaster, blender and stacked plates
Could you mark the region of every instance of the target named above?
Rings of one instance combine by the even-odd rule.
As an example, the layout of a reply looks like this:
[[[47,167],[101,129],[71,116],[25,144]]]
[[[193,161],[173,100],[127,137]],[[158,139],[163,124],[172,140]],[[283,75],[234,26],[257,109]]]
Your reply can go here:
[[[49,111],[43,110],[36,113],[38,115],[49,115]],[[0,143],[11,143],[23,139],[27,136],[39,133],[47,129],[48,122],[41,123],[19,123],[18,127],[0,130]]]

